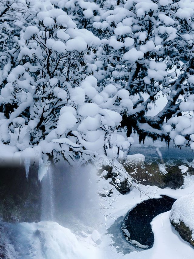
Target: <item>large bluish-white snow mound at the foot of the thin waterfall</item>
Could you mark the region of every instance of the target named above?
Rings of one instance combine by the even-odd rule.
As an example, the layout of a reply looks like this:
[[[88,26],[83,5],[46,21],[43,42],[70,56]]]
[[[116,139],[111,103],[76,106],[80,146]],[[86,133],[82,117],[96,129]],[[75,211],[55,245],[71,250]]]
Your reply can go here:
[[[6,229],[15,250],[10,258],[86,259],[96,254],[92,244],[86,247],[69,229],[56,222],[9,223]]]

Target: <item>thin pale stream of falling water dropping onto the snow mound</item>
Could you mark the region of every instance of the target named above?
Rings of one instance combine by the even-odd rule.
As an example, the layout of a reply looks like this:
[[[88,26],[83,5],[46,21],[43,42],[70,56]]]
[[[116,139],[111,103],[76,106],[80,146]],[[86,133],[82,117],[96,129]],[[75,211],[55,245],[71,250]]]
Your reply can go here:
[[[43,164],[46,167],[45,175],[42,178],[41,190],[41,220],[54,220],[54,188],[53,188],[53,170],[50,164]]]

